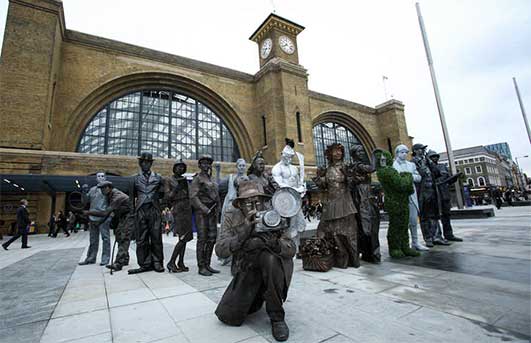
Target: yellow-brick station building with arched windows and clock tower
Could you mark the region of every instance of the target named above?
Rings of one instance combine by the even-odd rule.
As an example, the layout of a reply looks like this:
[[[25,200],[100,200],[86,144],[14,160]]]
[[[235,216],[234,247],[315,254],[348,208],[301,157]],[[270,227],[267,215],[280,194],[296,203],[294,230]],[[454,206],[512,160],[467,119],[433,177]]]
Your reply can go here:
[[[370,107],[308,89],[303,30],[269,15],[250,37],[260,69],[247,74],[69,30],[60,1],[10,0],[0,64],[2,216],[9,221],[6,209],[25,196],[32,218],[47,223],[76,189],[72,178],[131,175],[145,150],[163,175],[176,158],[193,172],[202,153],[226,174],[259,149],[275,163],[290,137],[311,177],[334,141],[368,152],[411,145],[400,101]],[[14,188],[20,175],[39,177],[18,178]]]

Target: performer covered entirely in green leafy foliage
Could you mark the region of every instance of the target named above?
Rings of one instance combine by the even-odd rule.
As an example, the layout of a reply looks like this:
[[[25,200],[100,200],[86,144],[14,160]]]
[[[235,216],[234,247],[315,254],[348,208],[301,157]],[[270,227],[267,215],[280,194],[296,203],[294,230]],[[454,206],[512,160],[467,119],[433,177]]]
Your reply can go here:
[[[379,155],[379,156],[378,156]],[[377,153],[376,175],[382,184],[385,202],[389,214],[387,244],[389,255],[399,258],[419,256],[419,252],[409,247],[409,196],[414,194],[413,175],[410,172],[398,172],[391,165],[389,152]]]

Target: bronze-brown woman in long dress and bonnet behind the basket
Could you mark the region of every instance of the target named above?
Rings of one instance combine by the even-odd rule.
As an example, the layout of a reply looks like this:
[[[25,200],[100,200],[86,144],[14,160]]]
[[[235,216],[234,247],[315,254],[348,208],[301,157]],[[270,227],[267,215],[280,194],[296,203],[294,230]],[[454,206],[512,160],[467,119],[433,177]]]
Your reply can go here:
[[[357,211],[349,187],[352,178],[343,164],[345,148],[339,143],[331,144],[326,147],[325,155],[328,167],[320,167],[313,178],[319,188],[326,192],[317,235],[324,236],[336,246],[334,267],[358,268]]]

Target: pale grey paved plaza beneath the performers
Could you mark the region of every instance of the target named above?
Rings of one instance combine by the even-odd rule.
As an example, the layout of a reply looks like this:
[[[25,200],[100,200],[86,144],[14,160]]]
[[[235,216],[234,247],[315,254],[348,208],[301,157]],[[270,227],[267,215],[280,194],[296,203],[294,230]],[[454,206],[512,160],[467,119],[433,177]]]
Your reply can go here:
[[[529,342],[531,209],[454,221],[465,242],[420,258],[361,268],[306,272],[301,261],[285,304],[289,342]],[[310,227],[315,227],[311,223]],[[170,256],[174,237],[164,237]],[[110,275],[78,266],[88,234],[30,236],[0,251],[0,342],[274,342],[261,310],[241,327],[220,323],[214,309],[231,277],[202,277],[195,241],[190,272]],[[134,244],[131,263],[136,267]],[[99,262],[99,259],[98,259]]]

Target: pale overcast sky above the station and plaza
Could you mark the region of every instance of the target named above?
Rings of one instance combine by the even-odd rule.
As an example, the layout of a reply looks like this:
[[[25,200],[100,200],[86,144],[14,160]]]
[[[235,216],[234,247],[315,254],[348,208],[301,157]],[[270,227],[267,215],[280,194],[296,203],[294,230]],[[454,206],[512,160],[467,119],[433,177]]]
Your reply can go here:
[[[7,0],[0,0],[5,26]],[[415,1],[64,0],[66,27],[250,74],[248,40],[269,13],[306,29],[299,61],[311,90],[376,106],[405,104],[415,142],[445,149]],[[531,174],[531,144],[515,95],[531,112],[531,1],[420,1],[454,149],[508,142]],[[3,34],[1,35],[3,37]],[[102,66],[104,68],[105,66]]]

